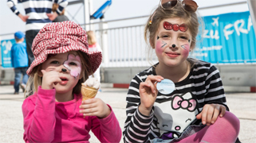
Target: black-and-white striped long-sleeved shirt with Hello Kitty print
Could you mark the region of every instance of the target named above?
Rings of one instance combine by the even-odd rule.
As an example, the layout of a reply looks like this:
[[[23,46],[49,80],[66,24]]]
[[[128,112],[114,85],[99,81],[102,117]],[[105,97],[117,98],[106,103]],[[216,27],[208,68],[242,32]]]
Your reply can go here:
[[[150,116],[145,116],[138,110],[139,88],[148,75],[156,75],[156,69],[152,66],[132,79],[126,98],[124,142],[179,138],[188,126],[200,124],[201,121],[195,116],[203,110],[205,104],[218,103],[226,106],[219,70],[201,60],[187,60],[193,65],[190,74],[183,81],[175,83],[175,91],[171,94],[163,95],[158,92]],[[226,108],[228,110],[227,106]]]

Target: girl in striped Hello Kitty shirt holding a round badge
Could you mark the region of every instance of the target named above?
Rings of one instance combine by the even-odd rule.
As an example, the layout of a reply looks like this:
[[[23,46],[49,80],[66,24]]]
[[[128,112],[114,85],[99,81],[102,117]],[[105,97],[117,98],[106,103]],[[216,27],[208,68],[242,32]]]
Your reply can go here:
[[[188,58],[199,20],[192,0],[162,0],[146,42],[159,62],[138,73],[127,95],[124,142],[234,142],[239,120],[226,106],[219,71]]]

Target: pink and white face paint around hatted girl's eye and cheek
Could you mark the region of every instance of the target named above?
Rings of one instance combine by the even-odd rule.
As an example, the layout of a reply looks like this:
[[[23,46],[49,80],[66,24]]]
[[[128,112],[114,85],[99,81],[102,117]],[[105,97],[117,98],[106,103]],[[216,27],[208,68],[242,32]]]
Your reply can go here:
[[[81,59],[80,56],[75,56],[73,54],[68,55],[68,60],[63,63],[65,68],[68,68],[70,75],[75,79],[81,74]]]

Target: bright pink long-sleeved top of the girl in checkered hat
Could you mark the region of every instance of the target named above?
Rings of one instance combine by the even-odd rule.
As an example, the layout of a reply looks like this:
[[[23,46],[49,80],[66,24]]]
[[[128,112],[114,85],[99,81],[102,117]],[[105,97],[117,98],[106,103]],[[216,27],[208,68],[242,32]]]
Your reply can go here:
[[[37,93],[25,99],[22,105],[24,141],[89,142],[89,131],[92,130],[100,142],[119,142],[122,134],[113,111],[107,118],[84,118],[79,113],[81,101],[81,95],[74,95],[69,102],[55,102],[55,89],[39,87]]]

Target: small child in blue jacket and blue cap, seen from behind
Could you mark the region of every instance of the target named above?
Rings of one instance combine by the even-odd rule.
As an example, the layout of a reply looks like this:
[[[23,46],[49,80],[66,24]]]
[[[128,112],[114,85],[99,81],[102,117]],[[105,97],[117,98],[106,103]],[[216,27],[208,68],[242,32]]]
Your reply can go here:
[[[21,31],[14,33],[16,44],[12,46],[11,52],[10,52],[11,64],[14,67],[14,72],[15,72],[14,95],[18,95],[21,76],[23,75],[22,83],[21,83],[23,92],[26,89],[26,82],[29,79],[29,75],[26,74],[29,61],[28,61],[28,55],[26,53],[26,44],[23,42],[24,37],[25,35]]]

